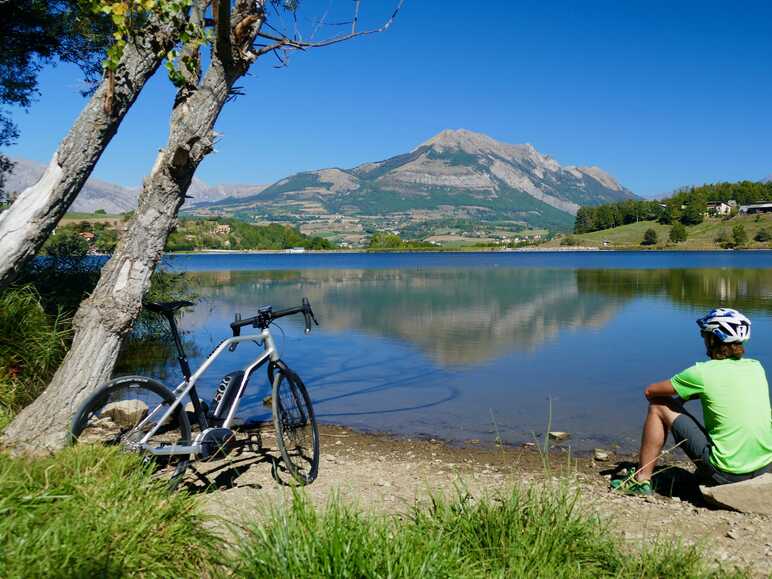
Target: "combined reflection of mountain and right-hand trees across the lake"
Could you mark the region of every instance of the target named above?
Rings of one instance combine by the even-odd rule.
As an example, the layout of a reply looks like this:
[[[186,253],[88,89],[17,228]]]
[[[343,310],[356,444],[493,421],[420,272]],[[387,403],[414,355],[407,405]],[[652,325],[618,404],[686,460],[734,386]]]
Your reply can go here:
[[[640,296],[678,304],[772,309],[772,270],[306,270],[188,274],[204,300],[230,312],[306,295],[324,328],[401,340],[443,365],[533,350],[561,329],[601,328]],[[194,314],[202,322],[209,313]]]

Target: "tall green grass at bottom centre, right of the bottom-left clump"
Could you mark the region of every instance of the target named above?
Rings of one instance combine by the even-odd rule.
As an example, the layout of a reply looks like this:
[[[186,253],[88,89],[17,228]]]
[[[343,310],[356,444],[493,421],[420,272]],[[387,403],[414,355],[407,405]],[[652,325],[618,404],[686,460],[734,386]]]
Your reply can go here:
[[[364,514],[340,501],[316,511],[302,496],[250,528],[243,577],[706,577],[694,548],[634,551],[565,491],[494,499],[435,499],[406,517]],[[631,521],[631,525],[635,524]]]

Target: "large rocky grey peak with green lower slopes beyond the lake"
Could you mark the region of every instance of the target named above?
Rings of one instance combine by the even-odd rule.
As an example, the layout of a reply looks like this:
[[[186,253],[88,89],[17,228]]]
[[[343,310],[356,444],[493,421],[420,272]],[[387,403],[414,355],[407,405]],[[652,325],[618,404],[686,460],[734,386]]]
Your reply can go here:
[[[387,228],[416,236],[459,223],[567,229],[580,205],[632,198],[599,167],[561,166],[531,145],[460,129],[384,161],[297,173],[258,195],[188,211],[290,220],[315,234]]]

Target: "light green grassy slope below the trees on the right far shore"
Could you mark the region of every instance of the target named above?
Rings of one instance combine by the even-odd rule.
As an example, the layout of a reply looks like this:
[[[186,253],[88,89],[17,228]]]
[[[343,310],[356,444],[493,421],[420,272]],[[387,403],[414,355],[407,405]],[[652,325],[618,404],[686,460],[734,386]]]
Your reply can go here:
[[[630,223],[612,229],[602,231],[593,231],[581,235],[571,235],[580,242],[580,245],[600,246],[604,240],[610,242],[615,248],[640,249],[643,234],[647,229],[653,229],[657,232],[658,243],[655,248],[668,249],[720,249],[720,244],[715,239],[721,231],[726,231],[729,238],[732,236],[732,227],[742,223],[745,231],[748,233],[748,244],[746,247],[760,249],[772,247],[770,243],[759,243],[753,240],[759,229],[766,228],[772,232],[772,214],[760,215],[758,220],[755,215],[737,215],[729,220],[710,217],[705,219],[699,225],[693,225],[686,228],[688,238],[683,243],[670,243],[668,236],[670,234],[670,225],[662,225],[656,221],[640,221]],[[554,245],[558,245],[555,242]]]

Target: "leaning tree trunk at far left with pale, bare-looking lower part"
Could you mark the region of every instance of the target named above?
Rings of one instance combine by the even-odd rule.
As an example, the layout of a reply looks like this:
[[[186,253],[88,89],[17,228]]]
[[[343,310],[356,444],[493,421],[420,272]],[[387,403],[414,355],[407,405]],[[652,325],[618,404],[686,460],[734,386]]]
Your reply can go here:
[[[117,70],[102,80],[40,180],[0,213],[0,288],[13,281],[72,205],[142,87],[174,46],[178,26],[148,24],[126,45]]]

